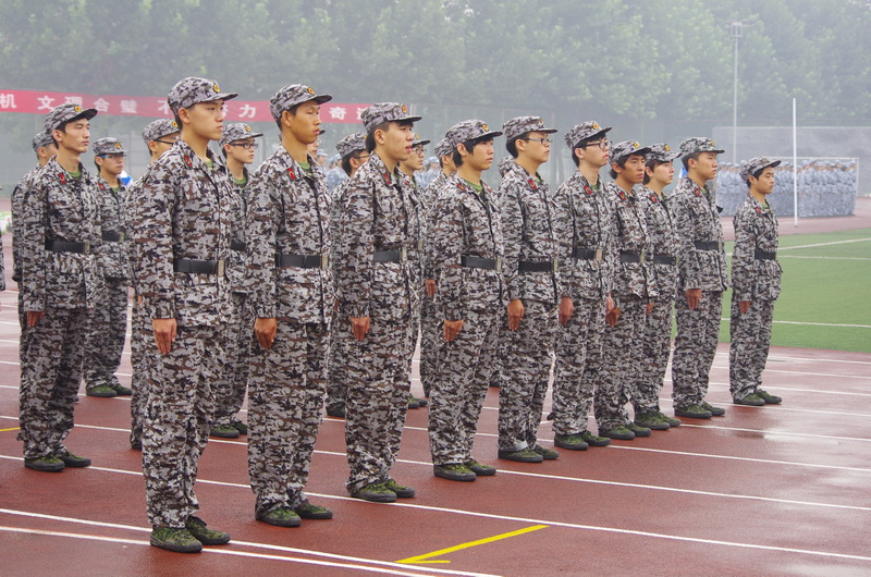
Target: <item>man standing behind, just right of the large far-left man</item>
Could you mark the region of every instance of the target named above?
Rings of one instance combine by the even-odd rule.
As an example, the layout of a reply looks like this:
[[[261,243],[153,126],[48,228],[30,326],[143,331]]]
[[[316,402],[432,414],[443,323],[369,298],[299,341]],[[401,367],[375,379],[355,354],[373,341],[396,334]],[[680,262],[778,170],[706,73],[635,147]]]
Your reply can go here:
[[[105,291],[98,304],[88,311],[88,336],[82,368],[88,396],[128,395],[115,371],[121,365],[127,331],[127,261],[126,226],[123,202],[126,188],[120,180],[127,151],[116,138],[100,138],[93,145],[97,201],[102,221],[102,274]]]

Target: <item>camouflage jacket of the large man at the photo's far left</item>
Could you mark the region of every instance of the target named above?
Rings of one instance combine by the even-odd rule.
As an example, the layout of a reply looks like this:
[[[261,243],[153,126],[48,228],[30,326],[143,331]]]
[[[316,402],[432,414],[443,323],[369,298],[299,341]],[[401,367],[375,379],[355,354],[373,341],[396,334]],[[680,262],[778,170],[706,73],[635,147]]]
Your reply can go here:
[[[52,158],[22,198],[21,292],[25,311],[90,308],[103,291],[100,207],[96,184],[85,168],[73,179]],[[87,243],[87,249],[56,251],[47,243]]]

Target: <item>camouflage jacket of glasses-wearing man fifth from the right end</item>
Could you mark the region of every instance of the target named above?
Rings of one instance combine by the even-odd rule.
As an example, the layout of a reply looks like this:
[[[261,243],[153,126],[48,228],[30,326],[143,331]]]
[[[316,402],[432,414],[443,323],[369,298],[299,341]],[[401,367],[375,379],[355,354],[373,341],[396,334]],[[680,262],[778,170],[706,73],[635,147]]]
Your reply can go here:
[[[611,271],[604,249],[612,243],[612,204],[590,186],[580,171],[556,189],[555,237],[560,243],[560,273],[572,298],[604,298],[611,292]],[[575,250],[599,251],[600,257],[575,258]]]

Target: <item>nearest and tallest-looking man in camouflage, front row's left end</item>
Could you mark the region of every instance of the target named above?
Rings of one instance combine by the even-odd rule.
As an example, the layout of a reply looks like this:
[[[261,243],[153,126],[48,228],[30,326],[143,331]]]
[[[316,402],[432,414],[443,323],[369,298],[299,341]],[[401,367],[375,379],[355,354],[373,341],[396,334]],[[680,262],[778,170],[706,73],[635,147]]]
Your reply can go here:
[[[184,553],[230,541],[194,515],[194,484],[232,316],[224,269],[233,191],[209,142],[221,137],[224,101],[236,96],[207,78],[180,81],[167,101],[181,138],[151,164],[132,198],[133,271],[155,340],[143,428],[150,542]]]

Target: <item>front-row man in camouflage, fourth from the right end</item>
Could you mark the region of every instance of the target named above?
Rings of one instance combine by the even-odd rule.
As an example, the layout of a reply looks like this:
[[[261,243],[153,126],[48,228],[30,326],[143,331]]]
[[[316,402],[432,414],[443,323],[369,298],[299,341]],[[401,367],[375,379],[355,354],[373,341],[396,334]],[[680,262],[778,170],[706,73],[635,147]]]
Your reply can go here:
[[[654,307],[657,283],[647,256],[650,237],[635,185],[645,177],[645,155],[650,148],[624,140],[611,149],[611,177],[605,197],[612,202],[611,230],[614,241],[605,248],[612,273],[614,308],[602,336],[602,354],[593,396],[599,434],[633,440],[649,437],[650,429],[629,419],[625,405],[635,400],[635,379],[641,363],[645,316]]]

